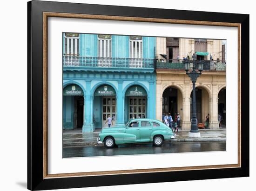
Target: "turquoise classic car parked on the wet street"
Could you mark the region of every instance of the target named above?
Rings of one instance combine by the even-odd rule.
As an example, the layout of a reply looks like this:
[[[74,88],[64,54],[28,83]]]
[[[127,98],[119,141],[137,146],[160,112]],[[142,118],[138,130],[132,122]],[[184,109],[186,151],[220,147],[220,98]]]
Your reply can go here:
[[[97,141],[112,148],[119,144],[141,142],[153,142],[155,146],[161,146],[164,140],[174,138],[173,131],[159,120],[132,119],[124,127],[102,129]]]

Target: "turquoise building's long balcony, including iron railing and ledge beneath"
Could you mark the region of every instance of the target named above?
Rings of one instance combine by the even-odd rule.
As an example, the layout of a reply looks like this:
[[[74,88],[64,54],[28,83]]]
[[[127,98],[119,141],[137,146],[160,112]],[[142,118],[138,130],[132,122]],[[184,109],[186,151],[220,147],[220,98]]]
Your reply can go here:
[[[120,57],[63,56],[64,70],[110,70],[149,71],[155,70],[155,59]]]

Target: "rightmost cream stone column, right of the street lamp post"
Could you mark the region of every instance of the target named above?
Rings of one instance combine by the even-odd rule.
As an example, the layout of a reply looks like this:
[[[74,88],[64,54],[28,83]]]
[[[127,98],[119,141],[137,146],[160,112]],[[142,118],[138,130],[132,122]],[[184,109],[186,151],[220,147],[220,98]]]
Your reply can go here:
[[[212,103],[210,102],[211,110],[210,113],[210,121],[209,127],[211,129],[218,129],[218,87],[217,84],[213,84],[212,86]]]

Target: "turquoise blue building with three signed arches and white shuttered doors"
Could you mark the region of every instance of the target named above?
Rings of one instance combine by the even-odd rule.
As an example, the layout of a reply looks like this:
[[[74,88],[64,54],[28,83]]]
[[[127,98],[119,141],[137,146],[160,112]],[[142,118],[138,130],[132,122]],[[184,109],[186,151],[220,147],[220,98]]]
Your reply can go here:
[[[63,129],[155,119],[155,37],[63,33]]]

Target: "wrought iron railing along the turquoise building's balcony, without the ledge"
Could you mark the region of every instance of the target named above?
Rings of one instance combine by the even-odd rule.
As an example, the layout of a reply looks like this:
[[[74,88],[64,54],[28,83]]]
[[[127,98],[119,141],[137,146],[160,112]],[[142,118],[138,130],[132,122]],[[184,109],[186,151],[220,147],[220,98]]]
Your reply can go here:
[[[63,56],[63,66],[154,69],[155,59]]]

